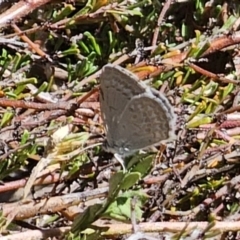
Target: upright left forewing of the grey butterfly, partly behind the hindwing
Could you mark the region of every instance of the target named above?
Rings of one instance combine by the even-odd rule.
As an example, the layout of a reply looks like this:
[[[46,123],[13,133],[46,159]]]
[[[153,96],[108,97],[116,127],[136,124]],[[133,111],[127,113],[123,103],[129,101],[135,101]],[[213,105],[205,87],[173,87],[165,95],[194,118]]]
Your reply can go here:
[[[119,124],[119,116],[132,96],[141,94],[145,89],[138,84],[137,76],[119,66],[111,64],[103,68],[100,76],[100,106],[106,128],[106,137],[112,145]]]

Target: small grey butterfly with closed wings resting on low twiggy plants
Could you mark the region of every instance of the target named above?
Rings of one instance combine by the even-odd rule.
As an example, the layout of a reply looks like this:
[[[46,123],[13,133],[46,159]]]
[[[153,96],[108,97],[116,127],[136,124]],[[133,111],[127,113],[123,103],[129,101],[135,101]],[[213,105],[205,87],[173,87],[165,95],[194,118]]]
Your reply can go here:
[[[175,138],[176,117],[167,98],[120,66],[103,67],[100,107],[108,152],[129,156]]]

